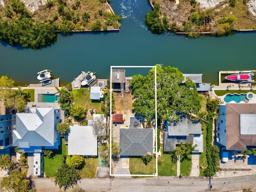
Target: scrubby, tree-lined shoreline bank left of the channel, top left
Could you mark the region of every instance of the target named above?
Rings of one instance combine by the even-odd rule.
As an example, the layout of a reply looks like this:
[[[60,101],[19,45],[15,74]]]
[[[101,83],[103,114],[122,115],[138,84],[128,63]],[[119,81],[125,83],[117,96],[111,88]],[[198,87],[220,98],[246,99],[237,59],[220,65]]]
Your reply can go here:
[[[54,43],[57,33],[119,30],[121,16],[105,0],[47,0],[29,12],[19,0],[0,4],[0,40],[40,49]]]

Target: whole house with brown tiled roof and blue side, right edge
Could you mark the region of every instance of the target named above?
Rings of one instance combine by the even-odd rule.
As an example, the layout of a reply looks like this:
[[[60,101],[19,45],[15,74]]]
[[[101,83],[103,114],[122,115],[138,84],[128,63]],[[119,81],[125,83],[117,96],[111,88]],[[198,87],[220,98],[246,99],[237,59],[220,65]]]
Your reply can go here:
[[[226,150],[246,150],[256,146],[256,104],[221,105],[216,123],[216,142],[226,146]]]

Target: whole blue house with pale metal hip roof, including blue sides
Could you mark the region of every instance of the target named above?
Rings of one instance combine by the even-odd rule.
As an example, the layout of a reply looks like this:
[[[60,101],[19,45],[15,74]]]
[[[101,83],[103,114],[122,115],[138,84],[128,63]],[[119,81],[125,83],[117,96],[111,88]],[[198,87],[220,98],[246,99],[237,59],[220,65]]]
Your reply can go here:
[[[19,152],[58,149],[61,141],[56,126],[61,122],[60,117],[60,109],[52,107],[29,108],[27,113],[17,113],[12,145],[18,146]]]

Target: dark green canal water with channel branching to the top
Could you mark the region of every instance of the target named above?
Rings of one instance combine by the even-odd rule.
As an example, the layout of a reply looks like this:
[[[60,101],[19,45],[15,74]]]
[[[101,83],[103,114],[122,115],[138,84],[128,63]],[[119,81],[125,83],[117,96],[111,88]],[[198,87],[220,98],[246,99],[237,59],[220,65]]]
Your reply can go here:
[[[144,24],[151,10],[148,0],[112,0],[111,5],[123,17],[120,32],[58,34],[55,44],[37,51],[1,42],[0,75],[11,76],[22,85],[37,83],[36,72],[49,69],[65,85],[81,70],[108,78],[111,65],[163,64],[183,73],[203,73],[204,82],[217,84],[219,70],[255,70],[255,33],[199,39],[171,32],[154,35]],[[148,70],[126,71],[131,76]]]

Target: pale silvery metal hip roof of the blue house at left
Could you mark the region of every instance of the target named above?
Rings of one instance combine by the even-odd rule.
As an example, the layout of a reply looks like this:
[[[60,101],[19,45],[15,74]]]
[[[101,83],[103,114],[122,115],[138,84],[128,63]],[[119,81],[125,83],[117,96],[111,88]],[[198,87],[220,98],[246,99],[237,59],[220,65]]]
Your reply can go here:
[[[29,113],[16,114],[13,146],[54,146],[54,108],[30,108]]]

